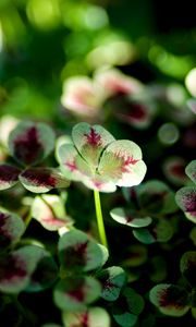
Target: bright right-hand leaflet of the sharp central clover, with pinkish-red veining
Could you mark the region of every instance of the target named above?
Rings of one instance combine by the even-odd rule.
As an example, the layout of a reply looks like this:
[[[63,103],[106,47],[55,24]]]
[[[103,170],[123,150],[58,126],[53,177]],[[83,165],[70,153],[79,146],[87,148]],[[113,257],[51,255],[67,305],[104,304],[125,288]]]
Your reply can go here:
[[[128,140],[112,142],[102,153],[98,172],[119,186],[139,184],[146,173],[139,146]]]

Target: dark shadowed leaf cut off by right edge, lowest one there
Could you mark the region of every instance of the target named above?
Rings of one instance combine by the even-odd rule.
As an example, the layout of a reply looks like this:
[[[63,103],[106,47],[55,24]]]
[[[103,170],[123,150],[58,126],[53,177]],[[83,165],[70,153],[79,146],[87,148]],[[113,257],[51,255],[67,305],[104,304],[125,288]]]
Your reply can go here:
[[[181,272],[191,283],[192,287],[196,287],[196,251],[185,252],[181,258]]]

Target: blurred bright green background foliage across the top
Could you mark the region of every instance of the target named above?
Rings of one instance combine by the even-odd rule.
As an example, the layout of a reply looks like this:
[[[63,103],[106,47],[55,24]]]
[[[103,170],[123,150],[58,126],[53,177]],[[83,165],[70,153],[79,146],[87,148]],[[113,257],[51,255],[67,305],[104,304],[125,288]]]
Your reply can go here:
[[[52,119],[62,83],[120,68],[184,84],[196,65],[191,1],[0,0],[0,114]]]

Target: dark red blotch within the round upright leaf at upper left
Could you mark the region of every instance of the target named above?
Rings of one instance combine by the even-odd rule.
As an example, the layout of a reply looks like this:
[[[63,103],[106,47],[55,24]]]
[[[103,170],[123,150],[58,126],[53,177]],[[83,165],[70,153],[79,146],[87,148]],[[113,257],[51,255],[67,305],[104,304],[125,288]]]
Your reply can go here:
[[[37,161],[42,153],[36,126],[29,128],[14,140],[14,156],[25,165]]]

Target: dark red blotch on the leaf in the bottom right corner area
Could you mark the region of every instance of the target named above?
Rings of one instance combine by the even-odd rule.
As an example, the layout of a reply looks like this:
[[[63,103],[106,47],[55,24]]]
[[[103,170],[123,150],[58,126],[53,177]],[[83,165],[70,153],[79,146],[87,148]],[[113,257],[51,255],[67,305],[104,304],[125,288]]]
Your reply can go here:
[[[161,290],[159,293],[159,305],[161,307],[174,307],[181,310],[185,305],[184,292],[170,287],[166,290]]]

